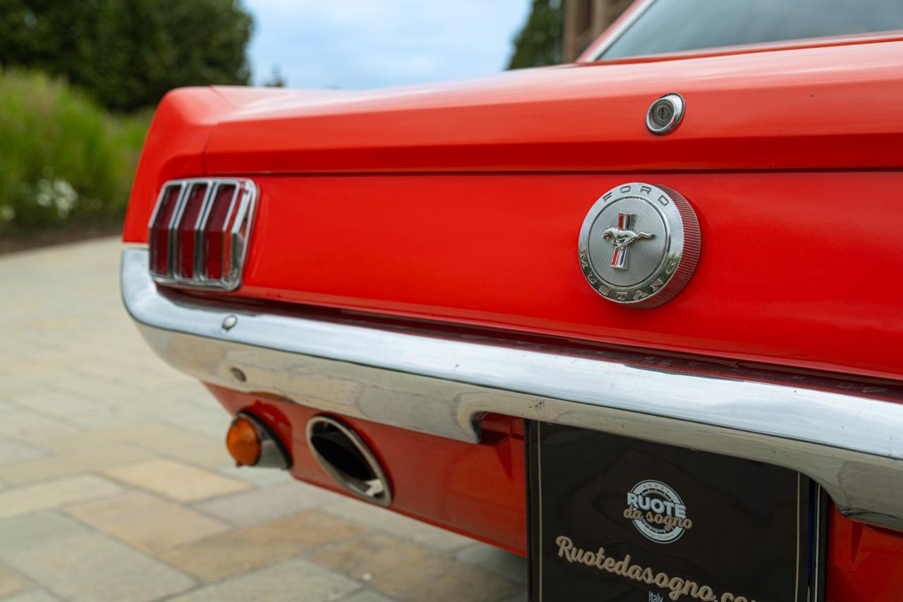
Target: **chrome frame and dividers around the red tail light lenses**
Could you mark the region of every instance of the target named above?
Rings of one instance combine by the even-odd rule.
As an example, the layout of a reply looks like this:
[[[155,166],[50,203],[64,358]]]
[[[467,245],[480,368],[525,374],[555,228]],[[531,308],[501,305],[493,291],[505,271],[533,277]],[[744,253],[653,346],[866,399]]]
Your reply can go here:
[[[204,198],[201,201],[198,216],[191,226],[194,232],[193,269],[191,277],[185,277],[179,273],[179,265],[177,264],[180,252],[179,245],[181,244],[179,227],[182,225],[182,218],[191,198],[191,190],[196,186],[206,186],[207,188],[204,191]],[[229,240],[228,271],[223,270],[219,278],[209,278],[206,275],[207,265],[204,264],[205,229],[208,225],[210,211],[217,199],[218,191],[227,186],[235,187],[235,191],[228,201],[229,206],[224,221],[225,229],[222,233],[224,242],[227,237]],[[179,187],[179,194],[176,199],[176,207],[172,211],[172,218],[166,225],[167,267],[165,272],[161,273],[154,269],[155,265],[153,262],[154,255],[158,253],[154,249],[156,242],[154,222],[158,213],[162,210],[163,199],[166,197],[167,191],[173,187]],[[151,246],[148,269],[154,282],[218,291],[235,291],[241,286],[247,250],[250,246],[250,237],[254,227],[257,196],[258,191],[255,182],[245,178],[187,178],[165,182],[160,189],[160,194],[157,196],[154,211],[147,226],[149,232],[148,240]]]

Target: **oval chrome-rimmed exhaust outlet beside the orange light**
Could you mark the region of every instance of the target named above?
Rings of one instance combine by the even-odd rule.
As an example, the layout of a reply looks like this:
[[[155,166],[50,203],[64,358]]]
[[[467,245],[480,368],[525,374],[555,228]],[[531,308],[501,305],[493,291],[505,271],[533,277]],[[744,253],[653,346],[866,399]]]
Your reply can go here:
[[[345,424],[314,416],[307,421],[307,443],[323,470],[346,491],[374,504],[392,504],[392,487],[379,460]]]

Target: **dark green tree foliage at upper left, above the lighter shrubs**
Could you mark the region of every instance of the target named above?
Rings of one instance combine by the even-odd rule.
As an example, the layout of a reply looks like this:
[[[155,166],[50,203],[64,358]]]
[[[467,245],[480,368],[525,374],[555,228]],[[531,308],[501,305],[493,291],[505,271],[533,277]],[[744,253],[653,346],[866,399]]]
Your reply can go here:
[[[0,0],[0,65],[127,111],[180,86],[247,84],[252,27],[237,0]]]

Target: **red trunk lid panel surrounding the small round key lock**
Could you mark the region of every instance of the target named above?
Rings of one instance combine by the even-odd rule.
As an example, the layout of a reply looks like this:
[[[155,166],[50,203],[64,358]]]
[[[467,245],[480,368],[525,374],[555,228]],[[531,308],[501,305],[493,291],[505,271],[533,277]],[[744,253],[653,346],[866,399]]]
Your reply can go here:
[[[512,71],[260,102],[224,116],[211,173],[658,171],[903,166],[903,42]],[[686,100],[649,134],[647,108]]]

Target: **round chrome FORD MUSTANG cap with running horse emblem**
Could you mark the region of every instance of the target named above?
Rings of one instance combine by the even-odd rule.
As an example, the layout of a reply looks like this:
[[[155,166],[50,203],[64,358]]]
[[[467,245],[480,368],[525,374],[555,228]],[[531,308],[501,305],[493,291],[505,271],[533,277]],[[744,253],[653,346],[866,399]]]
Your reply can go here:
[[[699,222],[675,190],[623,184],[592,206],[577,250],[583,275],[601,296],[630,307],[656,307],[690,280],[699,259]]]

